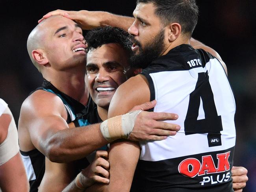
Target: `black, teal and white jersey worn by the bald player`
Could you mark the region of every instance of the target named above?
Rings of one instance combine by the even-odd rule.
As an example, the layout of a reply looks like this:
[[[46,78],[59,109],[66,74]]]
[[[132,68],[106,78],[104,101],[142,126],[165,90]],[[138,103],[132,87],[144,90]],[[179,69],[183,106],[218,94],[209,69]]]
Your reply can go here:
[[[97,105],[93,102],[91,96],[89,96],[88,104],[84,106],[82,103],[59,91],[49,81],[44,80],[42,87],[39,87],[36,90],[39,89],[52,92],[61,98],[67,110],[68,124],[70,122],[74,122],[75,126],[79,127],[87,126],[101,121],[97,114]],[[33,92],[35,92],[35,90]],[[20,151],[20,153],[22,155],[26,174],[29,179],[30,192],[37,192],[38,187],[43,179],[43,175],[45,174],[45,155],[43,155],[43,153],[37,149],[31,151]],[[74,165],[76,168],[76,173],[78,174],[83,168],[89,165],[89,161],[86,158],[83,158],[76,160]]]

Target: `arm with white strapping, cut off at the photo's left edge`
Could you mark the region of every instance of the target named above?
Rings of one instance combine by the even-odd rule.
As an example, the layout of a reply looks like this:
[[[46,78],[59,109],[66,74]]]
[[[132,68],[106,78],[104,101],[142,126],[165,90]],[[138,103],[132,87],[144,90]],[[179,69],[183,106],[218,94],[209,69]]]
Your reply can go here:
[[[17,127],[8,107],[0,116],[0,189],[3,192],[29,191],[19,152]]]

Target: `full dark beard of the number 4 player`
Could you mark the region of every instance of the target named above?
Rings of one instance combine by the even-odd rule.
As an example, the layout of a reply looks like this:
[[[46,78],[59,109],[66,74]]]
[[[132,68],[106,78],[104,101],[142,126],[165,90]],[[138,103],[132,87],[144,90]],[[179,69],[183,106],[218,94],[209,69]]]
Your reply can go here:
[[[164,30],[161,29],[153,42],[145,45],[142,49],[141,44],[131,37],[131,41],[139,46],[139,54],[132,53],[130,58],[131,65],[134,68],[146,68],[154,59],[160,56],[164,50]]]

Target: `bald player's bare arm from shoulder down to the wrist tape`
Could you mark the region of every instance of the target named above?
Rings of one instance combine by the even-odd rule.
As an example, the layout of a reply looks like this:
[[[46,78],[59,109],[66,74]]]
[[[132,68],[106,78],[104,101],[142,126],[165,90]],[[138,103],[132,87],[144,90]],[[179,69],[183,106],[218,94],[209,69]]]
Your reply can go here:
[[[22,104],[19,119],[20,148],[37,148],[50,161],[69,162],[85,157],[108,142],[99,124],[68,129],[67,112],[58,96],[38,90]]]

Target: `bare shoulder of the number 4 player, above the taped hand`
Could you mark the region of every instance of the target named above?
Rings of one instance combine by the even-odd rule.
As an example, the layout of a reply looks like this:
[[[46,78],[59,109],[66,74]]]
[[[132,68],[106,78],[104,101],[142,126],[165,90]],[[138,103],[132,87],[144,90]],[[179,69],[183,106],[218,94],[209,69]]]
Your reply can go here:
[[[109,105],[108,116],[125,114],[135,105],[140,105],[149,100],[148,81],[145,76],[139,74],[118,87]]]

